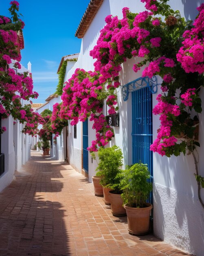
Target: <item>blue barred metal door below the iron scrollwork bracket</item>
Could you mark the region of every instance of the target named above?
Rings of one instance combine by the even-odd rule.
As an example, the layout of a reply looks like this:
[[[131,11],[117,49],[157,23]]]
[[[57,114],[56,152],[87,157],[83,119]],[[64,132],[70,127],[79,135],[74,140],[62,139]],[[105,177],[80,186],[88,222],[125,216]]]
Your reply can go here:
[[[133,164],[147,164],[153,179],[152,144],[152,94],[148,87],[132,92],[132,153]],[[150,201],[152,203],[152,193]]]

